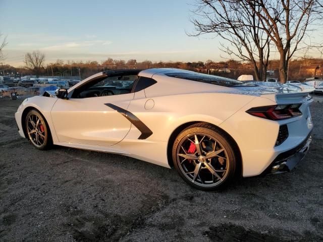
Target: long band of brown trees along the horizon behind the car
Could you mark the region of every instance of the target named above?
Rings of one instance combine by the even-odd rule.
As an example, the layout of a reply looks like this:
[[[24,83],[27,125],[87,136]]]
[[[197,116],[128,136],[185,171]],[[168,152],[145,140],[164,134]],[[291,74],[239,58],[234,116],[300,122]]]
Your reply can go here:
[[[116,69],[149,69],[149,68],[178,68],[205,74],[223,76],[237,79],[240,75],[253,75],[254,67],[250,62],[239,62],[234,60],[213,62],[137,62],[136,59],[128,61],[122,59],[107,58],[104,61],[64,61],[57,59],[56,62],[45,64],[45,56],[39,51],[26,53],[24,67],[11,67],[4,65],[0,67],[0,74],[16,74],[19,77],[25,75],[36,76],[61,76],[61,77],[78,77],[84,79],[95,73],[116,70]],[[260,66],[260,63],[257,63]],[[267,77],[279,78],[280,60],[274,59],[268,61]],[[308,56],[293,59],[290,61],[288,70],[288,80],[304,81],[309,77],[323,78],[321,67],[323,59],[311,58]],[[322,68],[323,69],[323,68]],[[7,70],[7,71],[6,71]]]

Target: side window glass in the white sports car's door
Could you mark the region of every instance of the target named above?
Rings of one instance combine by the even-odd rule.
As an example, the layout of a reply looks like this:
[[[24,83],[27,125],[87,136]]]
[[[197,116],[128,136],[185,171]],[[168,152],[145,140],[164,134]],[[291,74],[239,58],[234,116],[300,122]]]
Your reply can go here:
[[[133,89],[137,78],[137,75],[103,77],[73,93],[73,97],[87,98],[127,94]]]

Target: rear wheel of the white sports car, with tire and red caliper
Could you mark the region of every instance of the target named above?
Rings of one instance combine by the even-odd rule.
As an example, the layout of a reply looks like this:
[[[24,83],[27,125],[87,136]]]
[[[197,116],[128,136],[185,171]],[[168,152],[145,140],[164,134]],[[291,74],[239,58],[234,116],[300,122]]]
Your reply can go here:
[[[197,152],[196,140],[202,154]],[[215,156],[212,157],[213,155]],[[203,191],[214,191],[227,186],[235,177],[240,159],[232,138],[207,123],[198,123],[183,130],[174,142],[172,156],[176,170],[186,183]],[[193,160],[188,157],[193,157]]]

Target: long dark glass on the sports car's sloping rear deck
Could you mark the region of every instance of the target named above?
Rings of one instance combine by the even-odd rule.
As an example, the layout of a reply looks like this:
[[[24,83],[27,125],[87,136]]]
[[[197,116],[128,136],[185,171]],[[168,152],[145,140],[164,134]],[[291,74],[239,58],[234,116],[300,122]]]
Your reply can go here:
[[[186,79],[191,81],[204,82],[204,83],[227,86],[227,87],[249,86],[249,85],[255,86],[252,84],[247,84],[245,82],[237,81],[230,78],[212,76],[212,75],[196,73],[196,72],[166,73],[165,75],[169,77],[181,78],[181,79]]]

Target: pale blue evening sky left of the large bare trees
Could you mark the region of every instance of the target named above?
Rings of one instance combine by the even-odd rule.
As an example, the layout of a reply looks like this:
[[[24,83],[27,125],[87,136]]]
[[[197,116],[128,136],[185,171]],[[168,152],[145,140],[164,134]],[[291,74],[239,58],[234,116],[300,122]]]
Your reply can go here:
[[[7,36],[4,64],[23,65],[40,50],[46,63],[135,58],[219,61],[219,39],[190,37],[194,0],[0,0],[0,32]]]

